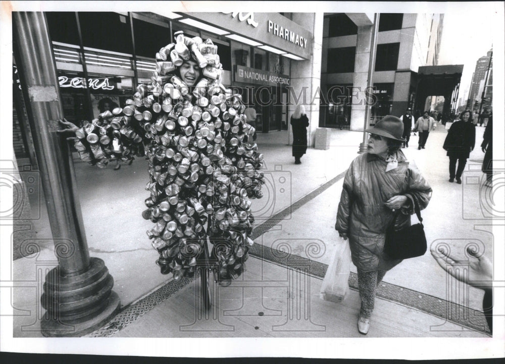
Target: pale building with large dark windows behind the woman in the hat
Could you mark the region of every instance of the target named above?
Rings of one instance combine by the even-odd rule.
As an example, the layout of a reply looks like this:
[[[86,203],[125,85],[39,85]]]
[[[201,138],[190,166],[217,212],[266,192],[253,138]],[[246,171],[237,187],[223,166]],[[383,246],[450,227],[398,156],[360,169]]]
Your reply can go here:
[[[364,100],[353,95],[367,86],[370,16],[324,15],[321,89],[328,104],[321,105],[321,127],[345,120],[350,130],[363,130]],[[419,67],[438,64],[442,24],[443,14],[380,14],[371,124],[414,105]]]

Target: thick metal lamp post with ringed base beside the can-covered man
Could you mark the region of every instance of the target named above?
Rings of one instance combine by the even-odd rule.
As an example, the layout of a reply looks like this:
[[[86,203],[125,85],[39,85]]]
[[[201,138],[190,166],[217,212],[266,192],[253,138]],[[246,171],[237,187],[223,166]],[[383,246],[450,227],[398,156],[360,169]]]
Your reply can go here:
[[[14,50],[58,266],[45,277],[44,336],[82,336],[120,308],[104,261],[90,258],[71,153],[57,134],[63,118],[56,65],[42,12],[13,12]],[[63,242],[63,245],[62,245]]]

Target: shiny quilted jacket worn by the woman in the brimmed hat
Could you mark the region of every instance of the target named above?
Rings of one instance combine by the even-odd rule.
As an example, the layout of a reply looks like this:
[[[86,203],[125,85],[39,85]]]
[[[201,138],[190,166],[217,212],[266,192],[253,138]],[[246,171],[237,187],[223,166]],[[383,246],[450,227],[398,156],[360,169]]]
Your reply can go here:
[[[386,161],[364,153],[352,161],[345,174],[335,228],[347,233],[352,263],[365,272],[388,270],[401,262],[383,253],[385,231],[395,217],[384,203],[396,195],[407,196],[409,204],[400,209],[394,225],[400,230],[411,224],[414,199],[421,210],[431,199],[430,185],[401,150],[397,160],[398,166],[386,172]]]

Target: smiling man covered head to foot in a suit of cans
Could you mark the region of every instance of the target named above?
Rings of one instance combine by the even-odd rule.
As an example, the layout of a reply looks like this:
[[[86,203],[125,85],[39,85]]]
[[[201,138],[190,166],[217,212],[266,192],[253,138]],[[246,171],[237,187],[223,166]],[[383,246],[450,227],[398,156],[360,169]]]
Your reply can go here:
[[[245,105],[220,83],[222,65],[212,40],[175,33],[156,54],[156,72],[124,107],[106,111],[75,133],[83,161],[149,160],[145,219],[162,274],[193,276],[204,260],[221,285],[245,269],[253,244],[252,198],[261,198],[263,155],[246,123]],[[213,244],[204,258],[207,239]]]

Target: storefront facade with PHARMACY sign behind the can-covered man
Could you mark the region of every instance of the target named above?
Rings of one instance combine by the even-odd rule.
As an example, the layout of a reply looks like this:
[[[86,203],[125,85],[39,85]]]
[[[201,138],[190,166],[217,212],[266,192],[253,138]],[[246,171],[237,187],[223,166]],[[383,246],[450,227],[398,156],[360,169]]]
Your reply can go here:
[[[314,42],[314,31],[320,28],[320,39],[322,15],[316,20],[314,13],[50,12],[45,17],[64,114],[74,123],[124,105],[138,84],[150,83],[156,53],[180,30],[218,45],[221,83],[256,108],[258,132],[284,132],[279,139],[289,142],[292,94],[312,93],[320,84],[321,42]],[[15,60],[13,70],[16,80]],[[14,88],[14,98],[15,153],[32,156],[19,89]],[[315,120],[309,128],[312,143],[318,106],[307,109]]]

